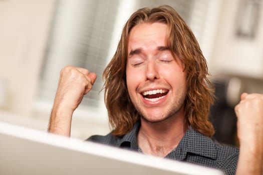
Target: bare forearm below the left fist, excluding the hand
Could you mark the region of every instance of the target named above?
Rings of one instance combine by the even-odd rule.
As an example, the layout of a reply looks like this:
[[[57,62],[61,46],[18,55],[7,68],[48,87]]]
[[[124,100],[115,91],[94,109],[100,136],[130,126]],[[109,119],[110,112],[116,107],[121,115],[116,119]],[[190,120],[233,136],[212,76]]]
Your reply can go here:
[[[51,112],[48,131],[59,135],[70,136],[73,111],[54,107]]]

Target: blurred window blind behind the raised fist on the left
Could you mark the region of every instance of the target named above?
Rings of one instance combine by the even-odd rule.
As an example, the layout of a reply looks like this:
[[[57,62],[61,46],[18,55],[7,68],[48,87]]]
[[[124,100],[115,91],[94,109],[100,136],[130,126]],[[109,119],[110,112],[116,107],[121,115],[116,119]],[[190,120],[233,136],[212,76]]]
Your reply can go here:
[[[97,73],[96,83],[82,103],[98,105],[118,4],[119,0],[57,1],[40,75],[38,100],[53,101],[60,70],[74,65]]]

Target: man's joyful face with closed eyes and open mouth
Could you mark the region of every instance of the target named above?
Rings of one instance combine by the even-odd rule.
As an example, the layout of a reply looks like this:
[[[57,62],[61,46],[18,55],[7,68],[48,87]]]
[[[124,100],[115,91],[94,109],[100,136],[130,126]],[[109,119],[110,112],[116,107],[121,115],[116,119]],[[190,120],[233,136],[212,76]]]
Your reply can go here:
[[[138,24],[128,41],[128,92],[142,117],[152,122],[184,114],[186,73],[167,47],[166,29],[159,22]]]

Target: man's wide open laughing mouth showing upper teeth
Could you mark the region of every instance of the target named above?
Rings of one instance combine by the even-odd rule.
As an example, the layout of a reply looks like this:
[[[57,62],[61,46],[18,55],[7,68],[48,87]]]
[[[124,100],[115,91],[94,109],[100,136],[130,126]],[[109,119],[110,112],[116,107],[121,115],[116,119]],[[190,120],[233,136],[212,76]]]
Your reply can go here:
[[[161,98],[164,98],[168,93],[168,90],[165,89],[156,89],[156,90],[148,90],[142,93],[144,99],[155,102]]]

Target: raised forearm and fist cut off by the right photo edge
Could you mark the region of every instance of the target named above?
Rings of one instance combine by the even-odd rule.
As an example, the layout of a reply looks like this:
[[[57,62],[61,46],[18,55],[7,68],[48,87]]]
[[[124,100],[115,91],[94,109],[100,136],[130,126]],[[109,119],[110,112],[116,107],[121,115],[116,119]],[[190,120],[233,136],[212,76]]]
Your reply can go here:
[[[235,106],[237,136],[240,142],[236,174],[262,175],[263,94],[242,93]]]

